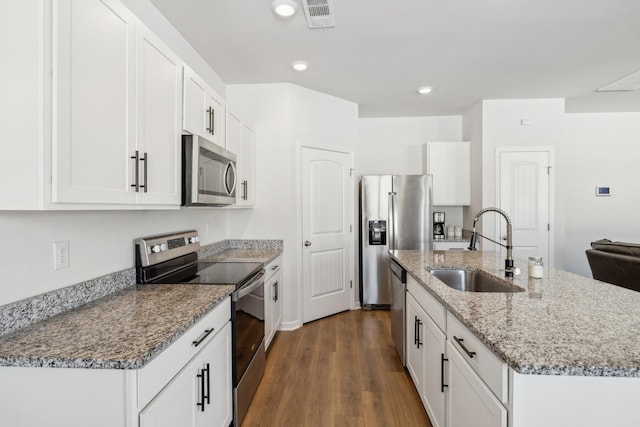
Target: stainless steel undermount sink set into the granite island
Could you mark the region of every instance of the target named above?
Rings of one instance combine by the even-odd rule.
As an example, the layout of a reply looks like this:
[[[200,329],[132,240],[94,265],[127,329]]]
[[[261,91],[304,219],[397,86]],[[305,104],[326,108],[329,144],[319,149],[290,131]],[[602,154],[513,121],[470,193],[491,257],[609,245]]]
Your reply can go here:
[[[522,292],[524,289],[499,277],[473,269],[427,269],[434,277],[450,288],[464,292]]]

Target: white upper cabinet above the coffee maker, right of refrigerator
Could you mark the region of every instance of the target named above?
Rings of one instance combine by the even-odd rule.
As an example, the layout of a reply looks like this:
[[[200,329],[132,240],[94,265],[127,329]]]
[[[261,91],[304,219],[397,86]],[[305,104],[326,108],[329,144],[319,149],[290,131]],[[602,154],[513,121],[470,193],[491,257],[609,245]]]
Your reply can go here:
[[[471,154],[468,142],[425,144],[425,173],[433,175],[433,204],[462,206],[471,203]]]

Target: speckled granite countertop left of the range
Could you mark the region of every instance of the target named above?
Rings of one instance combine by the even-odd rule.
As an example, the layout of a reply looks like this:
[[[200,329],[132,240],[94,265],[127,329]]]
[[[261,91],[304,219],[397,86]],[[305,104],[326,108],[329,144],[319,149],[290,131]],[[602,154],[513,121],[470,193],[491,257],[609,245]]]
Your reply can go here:
[[[139,285],[0,337],[0,366],[138,369],[234,286]]]

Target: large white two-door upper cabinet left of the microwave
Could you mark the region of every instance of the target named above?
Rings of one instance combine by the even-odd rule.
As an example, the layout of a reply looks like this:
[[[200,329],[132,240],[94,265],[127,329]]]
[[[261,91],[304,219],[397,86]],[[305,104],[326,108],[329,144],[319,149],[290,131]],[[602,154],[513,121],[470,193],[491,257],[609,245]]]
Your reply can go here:
[[[180,58],[117,0],[0,8],[0,209],[178,208]]]

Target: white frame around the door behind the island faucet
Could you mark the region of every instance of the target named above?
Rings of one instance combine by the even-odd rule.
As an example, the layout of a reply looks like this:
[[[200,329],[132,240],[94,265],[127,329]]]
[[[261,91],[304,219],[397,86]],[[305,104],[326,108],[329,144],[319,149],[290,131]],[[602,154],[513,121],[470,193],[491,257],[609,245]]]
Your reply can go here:
[[[553,267],[554,259],[555,259],[555,147],[551,145],[533,145],[533,146],[509,146],[504,145],[500,147],[496,147],[495,149],[495,158],[494,158],[494,171],[495,171],[495,206],[498,206],[500,202],[500,155],[506,152],[524,152],[524,151],[533,151],[533,152],[546,152],[549,155],[549,259],[543,260],[549,267]],[[499,206],[498,206],[499,207]],[[500,241],[500,221],[502,217],[496,217],[495,225],[494,225],[494,238],[496,241]]]

